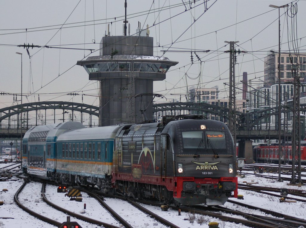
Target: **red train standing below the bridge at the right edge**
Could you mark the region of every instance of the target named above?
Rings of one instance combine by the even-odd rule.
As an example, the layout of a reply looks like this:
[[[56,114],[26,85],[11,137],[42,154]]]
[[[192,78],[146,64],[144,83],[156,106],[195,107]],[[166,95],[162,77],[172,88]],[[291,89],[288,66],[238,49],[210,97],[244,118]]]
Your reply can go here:
[[[253,148],[253,157],[255,162],[278,164],[278,145],[256,146]],[[301,163],[306,164],[306,146],[301,146]],[[297,159],[297,154],[296,154]],[[292,162],[292,146],[281,146],[282,163],[290,164]]]

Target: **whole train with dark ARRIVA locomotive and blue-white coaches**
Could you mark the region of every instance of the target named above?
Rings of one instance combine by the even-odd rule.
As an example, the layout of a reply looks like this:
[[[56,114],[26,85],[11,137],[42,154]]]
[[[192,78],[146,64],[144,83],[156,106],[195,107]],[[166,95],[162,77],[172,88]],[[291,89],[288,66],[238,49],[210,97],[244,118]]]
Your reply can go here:
[[[220,121],[85,128],[35,126],[23,139],[24,172],[62,184],[167,204],[224,204],[237,197],[233,138]]]

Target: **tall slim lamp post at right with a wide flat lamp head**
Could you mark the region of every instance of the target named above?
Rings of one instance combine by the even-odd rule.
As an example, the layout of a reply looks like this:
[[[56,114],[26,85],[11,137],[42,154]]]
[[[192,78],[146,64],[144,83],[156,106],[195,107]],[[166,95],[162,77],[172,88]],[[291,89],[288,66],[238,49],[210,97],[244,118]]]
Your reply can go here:
[[[278,8],[278,181],[281,180],[281,20],[280,8],[285,8],[286,5],[269,5],[272,8]]]

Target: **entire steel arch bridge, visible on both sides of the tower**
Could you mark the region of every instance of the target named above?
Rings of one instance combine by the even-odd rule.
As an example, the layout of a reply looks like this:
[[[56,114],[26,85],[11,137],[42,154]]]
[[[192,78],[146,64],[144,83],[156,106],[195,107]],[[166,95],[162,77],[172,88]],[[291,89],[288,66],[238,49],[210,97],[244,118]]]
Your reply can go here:
[[[306,104],[301,104],[301,112],[306,113]],[[92,116],[99,118],[99,107],[87,105],[83,103],[75,102],[34,102],[34,103],[24,103],[22,105],[15,105],[7,108],[0,109],[0,137],[17,137],[19,138],[21,133],[22,135],[33,125],[29,124],[28,114],[29,112],[34,111],[36,113],[35,125],[38,123],[38,110],[45,110],[45,113],[48,109],[54,110],[54,123],[55,119],[55,110],[62,110],[63,122],[65,121],[66,110],[72,112],[71,120],[74,121],[74,113],[79,112],[80,122],[84,122],[83,114],[86,113],[89,115],[89,124],[88,127],[92,127]],[[290,116],[292,112],[292,106],[282,106],[282,113],[287,113],[287,116]],[[24,123],[21,125],[17,121],[17,126],[11,124],[13,121],[12,118],[15,116],[16,119],[20,119],[20,114],[25,113]],[[176,103],[159,103],[153,105],[153,114],[157,118],[158,115],[169,115],[169,114],[203,114],[207,118],[215,118],[217,120],[228,122],[229,119],[229,108],[216,106],[205,103],[191,103],[191,102],[176,102]],[[277,119],[278,116],[278,107],[266,108],[263,110],[258,110],[252,113],[242,113],[235,111],[236,114],[236,129],[237,129],[237,139],[264,139],[264,136],[269,135],[271,138],[278,136],[278,128],[275,129],[273,126],[270,127],[267,123],[270,121],[271,116],[275,116],[274,119]],[[45,114],[46,118],[46,114]],[[4,125],[3,122],[6,122],[7,125]],[[33,122],[33,120],[31,121]],[[46,123],[46,119],[45,119]],[[266,123],[263,126],[263,123]],[[22,130],[22,132],[21,132]],[[284,132],[282,130],[282,135]],[[290,136],[289,136],[290,137]]]

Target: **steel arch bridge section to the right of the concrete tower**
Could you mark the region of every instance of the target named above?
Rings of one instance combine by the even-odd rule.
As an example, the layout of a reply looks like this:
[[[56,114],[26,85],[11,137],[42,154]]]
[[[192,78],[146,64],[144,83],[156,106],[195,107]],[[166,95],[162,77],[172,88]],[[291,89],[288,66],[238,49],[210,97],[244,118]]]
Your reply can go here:
[[[191,103],[191,102],[177,102],[177,103],[160,103],[153,105],[153,113],[155,118],[158,115],[171,114],[203,114],[207,118],[215,118],[217,120],[228,123],[230,117],[228,107],[216,106],[206,103]],[[281,113],[286,113],[291,116],[293,105],[281,106]],[[300,104],[300,111],[305,115],[306,104]],[[278,138],[278,127],[271,127],[269,122],[271,116],[278,118],[278,106],[258,110],[251,113],[242,113],[235,111],[236,114],[236,133],[237,139],[265,139],[265,136],[270,136],[271,139]],[[265,124],[264,124],[265,123]],[[282,126],[281,126],[282,127]],[[283,127],[282,127],[283,128]],[[289,132],[287,132],[288,134]],[[291,132],[290,132],[291,133]],[[284,130],[281,130],[281,135],[284,136]],[[288,135],[286,135],[288,137]],[[289,135],[291,138],[291,134]]]

